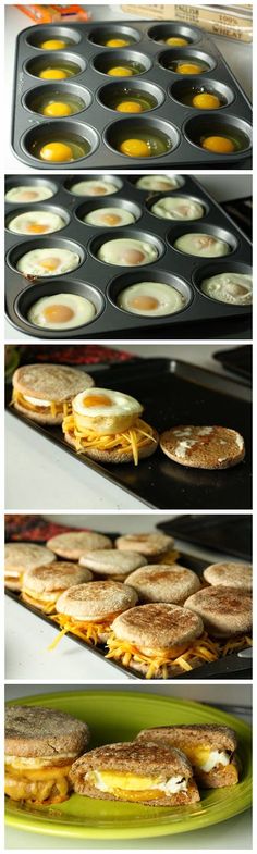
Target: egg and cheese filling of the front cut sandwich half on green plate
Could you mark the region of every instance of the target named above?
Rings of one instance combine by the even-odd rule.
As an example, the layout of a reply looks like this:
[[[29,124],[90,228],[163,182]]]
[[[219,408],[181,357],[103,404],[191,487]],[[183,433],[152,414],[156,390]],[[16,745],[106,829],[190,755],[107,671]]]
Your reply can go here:
[[[136,801],[140,800],[140,796],[149,800],[149,797],[163,797],[163,794],[170,795],[187,791],[186,780],[182,777],[171,777],[163,780],[161,777],[144,777],[128,772],[89,771],[86,779],[101,792],[117,794],[120,797],[123,794],[127,797],[131,793],[134,795],[131,800]]]

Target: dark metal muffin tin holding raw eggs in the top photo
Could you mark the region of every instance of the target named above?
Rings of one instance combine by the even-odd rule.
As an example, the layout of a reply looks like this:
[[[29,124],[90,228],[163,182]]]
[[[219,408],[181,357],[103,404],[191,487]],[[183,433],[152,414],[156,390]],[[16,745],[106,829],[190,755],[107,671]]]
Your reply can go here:
[[[106,38],[113,38],[115,35],[128,35],[135,39],[135,44],[123,49],[108,49],[97,44],[99,34],[106,34]],[[182,35],[191,40],[186,48],[169,48],[167,45],[158,44],[158,40],[171,34]],[[38,46],[45,39],[70,38],[74,44],[63,51],[46,51]],[[47,54],[47,55],[46,55]],[[45,119],[44,115],[35,113],[29,107],[32,91],[42,92],[44,87],[48,86],[51,91],[49,81],[44,81],[32,73],[34,63],[42,61],[56,61],[57,54],[65,54],[66,59],[76,61],[82,69],[79,74],[66,81],[53,83],[52,90],[64,91],[68,86],[89,100],[89,106],[75,115],[68,119]],[[105,67],[106,54],[111,60],[111,64],[121,65],[122,61],[132,59],[140,60],[145,72],[137,77],[110,77],[102,72]],[[180,75],[163,66],[167,59],[197,58],[209,59],[210,70],[195,77]],[[32,69],[33,65],[33,69]],[[107,67],[107,66],[106,66]],[[219,110],[196,110],[186,107],[176,100],[178,87],[186,83],[194,82],[201,84],[208,81],[212,88],[228,97],[228,103]],[[157,87],[158,106],[142,115],[130,114],[121,115],[115,110],[109,109],[101,103],[102,88],[113,85],[113,82],[121,86],[130,81],[130,85],[142,84],[146,90],[151,86]],[[132,81],[132,83],[131,83]],[[138,86],[139,88],[139,86]],[[88,139],[91,149],[87,157],[73,161],[74,169],[133,169],[135,165],[146,166],[176,166],[182,165],[186,169],[208,169],[211,166],[236,169],[245,168],[245,160],[250,154],[250,122],[252,108],[245,92],[238,82],[227,65],[223,57],[217,49],[212,39],[198,27],[185,24],[174,24],[173,22],[146,22],[130,21],[121,23],[102,24],[48,24],[28,27],[17,37],[15,72],[14,72],[14,97],[13,97],[13,122],[12,122],[12,146],[16,157],[28,166],[40,170],[51,169],[51,164],[45,160],[38,160],[30,152],[30,147],[38,139],[42,143],[51,139],[64,139],[65,134],[77,134],[81,138]],[[228,126],[237,133],[245,133],[248,145],[243,151],[231,154],[213,154],[198,145],[201,134],[209,135],[222,134]],[[131,158],[125,157],[113,148],[119,145],[120,134],[122,138],[131,136],[137,137],[144,128],[163,131],[172,140],[172,150],[159,157]],[[127,128],[127,132],[126,132]],[[249,159],[249,158],[248,158]],[[56,164],[53,164],[54,168]],[[62,169],[70,169],[71,162],[63,162]]]

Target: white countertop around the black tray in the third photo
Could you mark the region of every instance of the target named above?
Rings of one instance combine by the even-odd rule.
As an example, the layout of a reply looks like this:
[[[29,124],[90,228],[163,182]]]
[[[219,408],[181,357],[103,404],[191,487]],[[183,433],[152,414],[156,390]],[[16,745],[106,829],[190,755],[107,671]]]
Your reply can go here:
[[[227,349],[224,346],[144,344],[125,345],[124,349],[143,358],[173,356],[224,375],[219,362],[212,359],[213,352]],[[5,412],[5,510],[11,512],[16,508],[20,512],[146,511],[140,500]]]

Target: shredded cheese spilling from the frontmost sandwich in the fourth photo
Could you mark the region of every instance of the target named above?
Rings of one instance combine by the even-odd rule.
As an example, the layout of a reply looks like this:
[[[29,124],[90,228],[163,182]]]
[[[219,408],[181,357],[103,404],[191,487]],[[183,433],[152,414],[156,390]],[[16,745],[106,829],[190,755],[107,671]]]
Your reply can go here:
[[[120,660],[125,667],[133,666],[133,661],[145,665],[147,667],[146,679],[152,679],[159,671],[161,671],[161,677],[167,679],[170,667],[180,667],[182,671],[189,671],[196,666],[196,659],[215,661],[219,658],[219,644],[211,641],[206,633],[186,649],[184,647],[182,652],[181,647],[176,646],[167,651],[157,649],[151,656],[146,655],[127,641],[118,640],[114,632],[110,634],[107,645],[110,649],[107,658]]]

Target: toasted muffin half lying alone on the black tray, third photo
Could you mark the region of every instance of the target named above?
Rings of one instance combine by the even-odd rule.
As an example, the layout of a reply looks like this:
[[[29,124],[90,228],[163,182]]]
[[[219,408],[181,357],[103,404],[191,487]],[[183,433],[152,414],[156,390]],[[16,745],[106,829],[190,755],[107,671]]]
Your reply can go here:
[[[223,426],[174,426],[160,436],[167,457],[195,469],[229,469],[245,457],[243,436]]]

